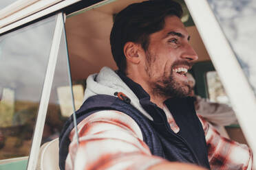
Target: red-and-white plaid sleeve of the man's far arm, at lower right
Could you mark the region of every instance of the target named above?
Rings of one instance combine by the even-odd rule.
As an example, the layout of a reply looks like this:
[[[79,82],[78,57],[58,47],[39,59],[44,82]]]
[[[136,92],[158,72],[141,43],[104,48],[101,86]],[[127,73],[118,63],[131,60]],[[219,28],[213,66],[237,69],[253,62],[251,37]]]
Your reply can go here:
[[[247,145],[220,136],[210,123],[198,117],[204,128],[211,169],[253,169],[253,154]]]

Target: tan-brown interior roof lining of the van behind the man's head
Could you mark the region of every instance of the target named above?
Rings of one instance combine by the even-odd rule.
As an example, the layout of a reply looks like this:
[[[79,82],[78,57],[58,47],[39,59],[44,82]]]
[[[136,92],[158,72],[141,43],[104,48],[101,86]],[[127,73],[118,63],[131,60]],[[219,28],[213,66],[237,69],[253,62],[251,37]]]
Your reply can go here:
[[[98,73],[103,66],[117,69],[109,44],[113,16],[127,5],[140,1],[114,1],[67,16],[65,29],[73,81],[85,80],[88,75]],[[187,10],[184,3],[182,8]],[[198,61],[210,60],[195,25],[187,27],[187,30],[191,35],[190,43],[198,53]]]

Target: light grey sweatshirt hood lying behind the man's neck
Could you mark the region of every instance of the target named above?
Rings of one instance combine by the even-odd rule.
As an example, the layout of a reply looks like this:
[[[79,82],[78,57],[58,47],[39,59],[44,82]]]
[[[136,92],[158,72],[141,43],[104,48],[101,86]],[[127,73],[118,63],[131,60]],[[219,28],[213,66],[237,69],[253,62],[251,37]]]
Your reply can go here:
[[[153,121],[152,117],[140,105],[140,100],[134,92],[122,81],[115,71],[106,66],[100,70],[100,73],[89,75],[87,78],[84,101],[94,95],[115,96],[114,93],[116,92],[124,93],[131,99],[132,106],[140,110],[145,117]]]

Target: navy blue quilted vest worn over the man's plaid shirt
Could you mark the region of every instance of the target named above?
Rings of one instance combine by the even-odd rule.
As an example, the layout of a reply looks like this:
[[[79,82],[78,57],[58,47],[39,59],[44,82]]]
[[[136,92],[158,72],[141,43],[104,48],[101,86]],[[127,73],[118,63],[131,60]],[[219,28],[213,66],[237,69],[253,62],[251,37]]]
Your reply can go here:
[[[170,161],[189,162],[210,169],[204,130],[195,114],[193,98],[171,98],[164,104],[169,108],[180,132],[175,134],[164,111],[150,101],[149,95],[139,84],[118,73],[122,80],[140,99],[140,105],[151,115],[153,121],[145,117],[129,102],[109,95],[89,97],[76,111],[78,123],[85,117],[100,110],[118,110],[129,115],[140,127],[143,141],[149,146],[151,153]],[[70,144],[69,134],[74,128],[73,118],[65,123],[59,141],[59,166],[65,169],[65,159]]]

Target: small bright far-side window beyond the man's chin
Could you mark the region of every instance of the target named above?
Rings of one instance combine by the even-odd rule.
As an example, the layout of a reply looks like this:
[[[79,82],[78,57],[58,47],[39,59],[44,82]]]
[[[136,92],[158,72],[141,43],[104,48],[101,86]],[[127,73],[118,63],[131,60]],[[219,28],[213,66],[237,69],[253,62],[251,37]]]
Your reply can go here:
[[[231,106],[222,82],[220,82],[220,77],[217,75],[216,71],[208,71],[206,73],[206,82],[210,101]]]

